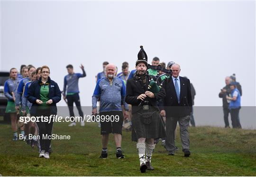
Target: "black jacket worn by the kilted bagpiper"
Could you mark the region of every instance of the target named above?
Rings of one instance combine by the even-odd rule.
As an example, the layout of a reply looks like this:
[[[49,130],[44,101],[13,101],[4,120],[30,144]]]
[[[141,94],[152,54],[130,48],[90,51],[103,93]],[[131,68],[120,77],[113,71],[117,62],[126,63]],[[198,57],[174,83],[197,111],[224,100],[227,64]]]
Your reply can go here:
[[[142,84],[140,84],[140,82],[137,80],[136,77],[128,79],[127,81],[125,101],[128,104],[132,105],[132,113],[135,113],[138,110],[141,110],[143,108],[142,106],[138,106],[141,100],[137,100],[137,97],[140,94],[145,93],[147,91],[148,80],[149,80],[148,77],[146,77],[145,88],[142,86]],[[155,95],[155,98],[146,97],[146,99],[149,102],[149,105],[155,107],[156,110],[159,110],[157,101],[165,97],[165,89],[162,88],[159,91],[159,93],[154,93],[154,95]]]

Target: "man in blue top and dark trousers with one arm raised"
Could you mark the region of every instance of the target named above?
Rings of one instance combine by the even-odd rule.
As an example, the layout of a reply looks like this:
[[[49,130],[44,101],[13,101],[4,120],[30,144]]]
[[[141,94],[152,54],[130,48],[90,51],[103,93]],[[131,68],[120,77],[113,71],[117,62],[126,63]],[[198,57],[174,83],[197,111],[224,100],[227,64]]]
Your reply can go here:
[[[81,109],[81,102],[79,97],[78,80],[80,77],[85,77],[86,73],[84,67],[81,65],[82,74],[74,73],[73,66],[66,66],[68,75],[64,77],[64,88],[63,88],[63,98],[67,99],[68,109],[70,117],[74,117],[73,103],[75,103],[76,108],[79,112],[79,116],[83,118],[83,112]],[[67,93],[66,93],[67,92]],[[76,123],[72,122],[69,126],[75,126]],[[81,120],[81,126],[84,126],[84,122]]]

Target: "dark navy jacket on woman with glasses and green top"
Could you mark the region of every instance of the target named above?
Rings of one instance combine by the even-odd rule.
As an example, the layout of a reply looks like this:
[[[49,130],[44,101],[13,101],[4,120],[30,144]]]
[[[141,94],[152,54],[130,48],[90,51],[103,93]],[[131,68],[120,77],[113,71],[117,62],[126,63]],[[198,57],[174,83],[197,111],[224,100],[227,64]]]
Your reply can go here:
[[[51,80],[50,77],[48,77],[48,81],[46,82],[49,84],[49,99],[53,100],[53,103],[49,105],[51,109],[51,114],[57,114],[57,107],[56,103],[61,100],[61,91],[59,89],[59,86],[57,83],[55,83],[53,80]],[[36,80],[31,83],[28,93],[27,93],[27,100],[32,103],[32,107],[30,110],[31,116],[36,116],[37,113],[37,102],[36,100],[40,100],[40,87],[44,84],[41,81],[41,77],[39,80]]]

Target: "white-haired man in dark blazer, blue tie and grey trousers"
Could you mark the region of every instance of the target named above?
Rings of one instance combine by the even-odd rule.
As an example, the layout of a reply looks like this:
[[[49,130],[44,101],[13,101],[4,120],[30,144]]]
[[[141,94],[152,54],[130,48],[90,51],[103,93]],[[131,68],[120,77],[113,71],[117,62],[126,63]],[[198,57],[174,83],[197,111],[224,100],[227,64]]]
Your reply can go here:
[[[166,150],[174,155],[174,131],[177,122],[180,125],[182,149],[185,157],[190,155],[188,126],[192,111],[192,96],[190,80],[179,76],[181,71],[178,64],[172,65],[173,75],[167,78],[163,88],[166,96],[160,103],[160,115],[166,117]]]

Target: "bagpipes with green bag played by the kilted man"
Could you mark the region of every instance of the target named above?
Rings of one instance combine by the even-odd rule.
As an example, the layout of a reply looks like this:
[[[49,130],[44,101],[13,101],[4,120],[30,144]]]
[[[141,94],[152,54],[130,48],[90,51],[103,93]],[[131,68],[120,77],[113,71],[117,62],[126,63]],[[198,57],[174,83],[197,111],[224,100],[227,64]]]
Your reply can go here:
[[[140,46],[140,51],[138,53],[138,61],[139,60],[145,60],[147,63],[147,55],[146,52],[143,49],[143,46]],[[155,69],[157,70],[157,74],[156,76],[150,76],[148,74],[148,69]],[[161,78],[161,76],[159,76],[159,72],[162,71],[164,72],[164,74],[162,74],[161,76],[165,76],[164,79],[161,80],[161,83],[159,83],[159,78]],[[147,87],[147,91],[150,91],[152,93],[159,93],[159,91],[162,89],[163,84],[165,82],[165,80],[169,77],[172,76],[173,71],[172,69],[165,69],[164,67],[161,67],[161,65],[158,66],[152,66],[150,64],[147,64],[147,70],[146,70],[146,76],[149,78],[149,84]],[[140,104],[138,106],[141,106],[144,101],[141,101]]]

